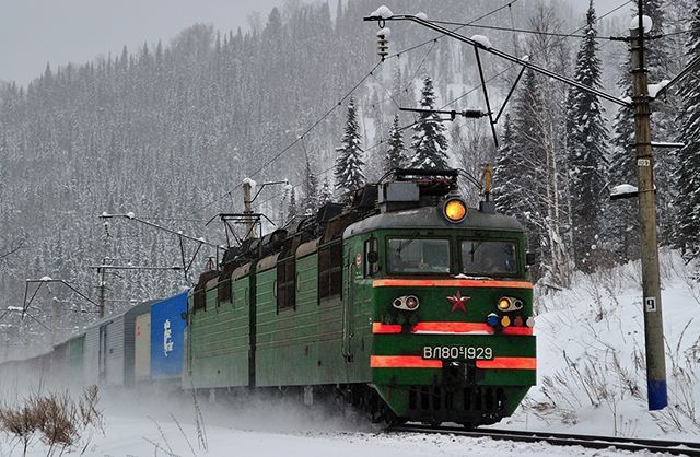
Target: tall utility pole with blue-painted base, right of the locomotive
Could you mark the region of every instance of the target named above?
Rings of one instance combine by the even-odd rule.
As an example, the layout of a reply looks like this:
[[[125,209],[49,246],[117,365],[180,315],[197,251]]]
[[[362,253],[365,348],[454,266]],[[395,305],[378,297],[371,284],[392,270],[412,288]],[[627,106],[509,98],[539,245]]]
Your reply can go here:
[[[654,194],[654,157],[650,127],[650,98],[644,61],[642,1],[639,1],[639,28],[632,34],[632,91],[634,102],[634,132],[637,139],[637,175],[639,187],[639,224],[642,244],[642,293],[644,306],[644,338],[646,345],[646,389],[650,411],[668,405],[666,391],[666,361],[664,326],[658,273],[656,239],[656,201]]]

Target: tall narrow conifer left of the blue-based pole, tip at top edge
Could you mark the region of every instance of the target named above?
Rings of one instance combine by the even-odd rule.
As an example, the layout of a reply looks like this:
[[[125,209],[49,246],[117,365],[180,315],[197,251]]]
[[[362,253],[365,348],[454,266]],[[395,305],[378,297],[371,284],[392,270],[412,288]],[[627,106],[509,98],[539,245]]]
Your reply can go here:
[[[586,13],[585,38],[576,57],[574,79],[581,84],[600,87],[600,59],[593,0]],[[605,187],[605,145],[607,132],[603,106],[597,95],[571,89],[568,101],[568,168],[573,191],[573,253],[576,268],[591,269],[591,254],[598,243],[600,195]]]

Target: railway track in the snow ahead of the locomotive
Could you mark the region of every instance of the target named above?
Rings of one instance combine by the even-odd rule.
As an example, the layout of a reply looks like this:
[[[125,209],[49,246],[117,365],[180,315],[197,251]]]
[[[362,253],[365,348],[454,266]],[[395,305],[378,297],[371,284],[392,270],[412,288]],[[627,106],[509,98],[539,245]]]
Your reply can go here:
[[[614,447],[622,450],[645,450],[652,453],[667,453],[670,455],[685,455],[700,457],[700,443],[674,442],[665,440],[628,438],[620,436],[572,435],[567,433],[524,432],[501,429],[465,430],[460,427],[406,424],[387,429],[388,432],[406,433],[451,433],[469,437],[490,437],[492,440],[508,440],[525,443],[545,442],[556,446],[582,446],[593,449],[607,449]]]

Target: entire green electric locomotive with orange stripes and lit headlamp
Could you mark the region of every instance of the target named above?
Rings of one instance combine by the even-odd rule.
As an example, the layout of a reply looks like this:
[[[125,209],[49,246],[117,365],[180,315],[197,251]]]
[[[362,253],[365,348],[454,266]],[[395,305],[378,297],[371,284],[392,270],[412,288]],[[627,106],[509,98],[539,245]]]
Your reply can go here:
[[[183,387],[334,396],[374,421],[490,424],[536,382],[523,227],[456,172],[396,171],[231,248],[189,297]]]

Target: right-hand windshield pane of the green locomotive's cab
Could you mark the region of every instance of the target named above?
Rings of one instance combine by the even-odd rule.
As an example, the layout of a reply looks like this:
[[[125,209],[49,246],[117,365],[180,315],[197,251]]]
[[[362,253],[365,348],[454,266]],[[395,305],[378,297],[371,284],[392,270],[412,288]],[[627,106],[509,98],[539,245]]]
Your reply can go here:
[[[515,274],[517,273],[515,243],[470,239],[462,242],[462,273]]]

